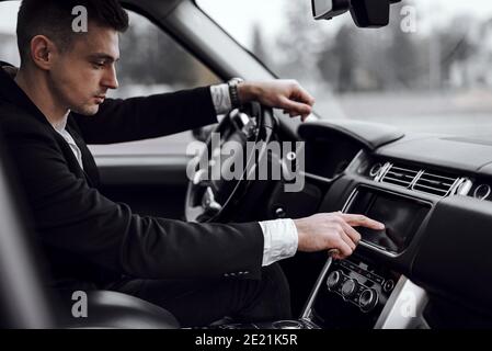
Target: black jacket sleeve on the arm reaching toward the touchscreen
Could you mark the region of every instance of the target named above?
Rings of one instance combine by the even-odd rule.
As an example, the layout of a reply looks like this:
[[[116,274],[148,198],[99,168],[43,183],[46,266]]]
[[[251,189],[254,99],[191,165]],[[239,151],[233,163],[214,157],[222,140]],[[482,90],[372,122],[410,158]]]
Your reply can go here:
[[[47,126],[24,116],[5,123],[5,139],[43,242],[73,260],[145,279],[260,275],[258,223],[190,224],[131,213],[68,168]]]

